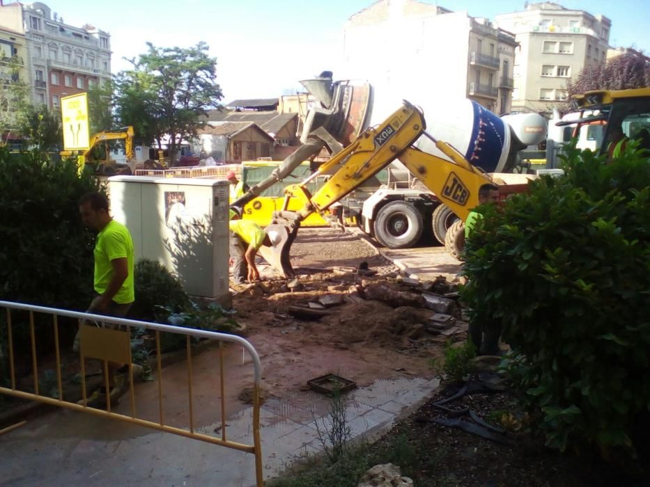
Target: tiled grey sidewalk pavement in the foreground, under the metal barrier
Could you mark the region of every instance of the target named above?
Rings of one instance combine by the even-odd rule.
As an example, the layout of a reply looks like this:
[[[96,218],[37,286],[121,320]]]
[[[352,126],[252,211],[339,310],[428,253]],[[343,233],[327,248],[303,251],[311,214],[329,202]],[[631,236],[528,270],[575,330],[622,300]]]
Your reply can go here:
[[[347,394],[353,438],[388,429],[438,387],[438,380],[376,380]],[[315,392],[271,398],[261,408],[264,478],[322,451],[327,398]],[[315,419],[316,418],[316,419]],[[317,426],[318,424],[318,426]],[[197,431],[220,437],[219,423]],[[252,407],[226,420],[227,438],[252,445]],[[216,431],[215,431],[216,429]],[[4,486],[219,486],[255,484],[254,456],[116,420],[58,410],[0,437]]]

